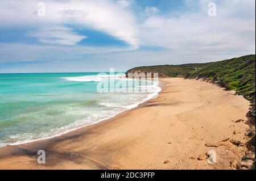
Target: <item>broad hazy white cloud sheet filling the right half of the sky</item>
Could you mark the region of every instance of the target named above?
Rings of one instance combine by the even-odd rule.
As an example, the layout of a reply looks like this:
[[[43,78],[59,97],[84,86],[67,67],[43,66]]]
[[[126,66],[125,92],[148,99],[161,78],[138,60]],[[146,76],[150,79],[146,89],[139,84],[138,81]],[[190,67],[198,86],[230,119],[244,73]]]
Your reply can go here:
[[[197,11],[175,17],[152,15],[142,24],[141,45],[184,54],[255,53],[255,1],[222,1],[217,16],[208,16],[207,0]],[[205,6],[204,6],[205,5]]]

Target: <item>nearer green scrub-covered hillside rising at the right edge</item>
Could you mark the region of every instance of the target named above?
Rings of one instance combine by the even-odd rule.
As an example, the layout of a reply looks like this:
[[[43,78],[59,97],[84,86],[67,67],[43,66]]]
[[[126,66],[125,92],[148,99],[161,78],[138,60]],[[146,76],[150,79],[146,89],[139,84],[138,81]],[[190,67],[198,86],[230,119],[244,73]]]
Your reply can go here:
[[[248,100],[255,99],[255,55],[206,64],[188,78],[204,78],[219,83]]]

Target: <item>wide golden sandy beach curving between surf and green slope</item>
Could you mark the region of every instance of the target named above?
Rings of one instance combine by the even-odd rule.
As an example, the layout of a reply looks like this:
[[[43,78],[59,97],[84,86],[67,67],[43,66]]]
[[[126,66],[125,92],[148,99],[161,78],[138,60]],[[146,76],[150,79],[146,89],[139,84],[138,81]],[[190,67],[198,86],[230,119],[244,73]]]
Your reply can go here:
[[[0,169],[232,169],[249,140],[250,102],[203,81],[162,81],[158,98],[112,119],[0,149]],[[46,164],[37,162],[41,149]],[[216,151],[216,164],[197,159],[209,150]]]

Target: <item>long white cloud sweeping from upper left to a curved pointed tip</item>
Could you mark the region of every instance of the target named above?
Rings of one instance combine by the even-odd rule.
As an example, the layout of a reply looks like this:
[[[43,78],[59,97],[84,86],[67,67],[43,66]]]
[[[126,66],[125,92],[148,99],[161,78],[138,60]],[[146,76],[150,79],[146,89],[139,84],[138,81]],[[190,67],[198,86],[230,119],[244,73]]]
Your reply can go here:
[[[119,3],[107,0],[70,0],[65,2],[44,1],[46,4],[46,16],[37,16],[37,3],[32,0],[1,2],[0,19],[3,26],[39,26],[48,27],[56,24],[78,24],[84,28],[94,28],[104,31],[117,39],[126,41],[133,49],[138,48],[137,25],[133,13],[129,9],[128,2]]]

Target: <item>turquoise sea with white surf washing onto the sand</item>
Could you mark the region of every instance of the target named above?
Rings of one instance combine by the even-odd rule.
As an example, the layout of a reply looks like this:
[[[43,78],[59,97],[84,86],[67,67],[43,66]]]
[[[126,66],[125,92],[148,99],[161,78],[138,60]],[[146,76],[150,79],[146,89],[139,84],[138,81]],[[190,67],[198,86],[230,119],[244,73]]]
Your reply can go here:
[[[97,74],[0,74],[0,147],[67,133],[149,98],[147,93],[99,93]]]

